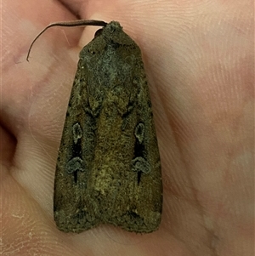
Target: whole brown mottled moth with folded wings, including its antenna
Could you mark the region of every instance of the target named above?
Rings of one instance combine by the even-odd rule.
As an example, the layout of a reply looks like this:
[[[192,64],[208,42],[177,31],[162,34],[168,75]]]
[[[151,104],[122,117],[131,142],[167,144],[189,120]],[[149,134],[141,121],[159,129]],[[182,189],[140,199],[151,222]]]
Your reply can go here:
[[[161,162],[139,46],[116,21],[48,27],[91,25],[103,28],[80,52],[56,164],[54,220],[65,232],[111,224],[149,233],[161,222]]]

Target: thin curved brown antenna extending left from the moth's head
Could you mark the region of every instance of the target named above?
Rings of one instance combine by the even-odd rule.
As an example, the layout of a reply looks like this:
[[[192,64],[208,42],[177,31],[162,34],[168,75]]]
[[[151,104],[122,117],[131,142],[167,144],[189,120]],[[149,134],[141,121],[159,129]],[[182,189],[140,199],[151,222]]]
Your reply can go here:
[[[103,20],[71,20],[71,21],[61,21],[61,22],[54,22],[46,26],[38,35],[35,37],[35,39],[32,41],[28,53],[26,55],[26,61],[29,61],[29,55],[31,53],[31,48],[34,43],[36,43],[38,37],[42,35],[45,31],[48,30],[48,28],[52,26],[106,26],[107,23]]]

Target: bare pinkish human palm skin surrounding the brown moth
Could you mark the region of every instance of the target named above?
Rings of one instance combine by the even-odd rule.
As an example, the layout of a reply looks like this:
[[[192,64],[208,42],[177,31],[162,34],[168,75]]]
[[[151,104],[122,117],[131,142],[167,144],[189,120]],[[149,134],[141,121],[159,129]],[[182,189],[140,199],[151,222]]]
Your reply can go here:
[[[252,1],[3,0],[0,111],[3,255],[254,253]],[[77,16],[78,15],[78,16]],[[53,219],[54,169],[78,53],[118,20],[142,49],[164,188],[160,229],[101,225],[79,235]]]

